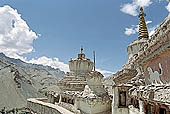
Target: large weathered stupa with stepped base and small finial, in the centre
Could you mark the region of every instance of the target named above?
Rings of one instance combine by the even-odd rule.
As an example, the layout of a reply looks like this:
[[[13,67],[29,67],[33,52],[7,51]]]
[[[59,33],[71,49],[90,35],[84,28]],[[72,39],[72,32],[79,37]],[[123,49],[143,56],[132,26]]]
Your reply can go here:
[[[85,77],[93,70],[93,66],[93,62],[86,58],[83,48],[81,48],[77,57],[69,61],[70,72],[67,72],[57,85],[61,90],[83,91],[87,85]]]

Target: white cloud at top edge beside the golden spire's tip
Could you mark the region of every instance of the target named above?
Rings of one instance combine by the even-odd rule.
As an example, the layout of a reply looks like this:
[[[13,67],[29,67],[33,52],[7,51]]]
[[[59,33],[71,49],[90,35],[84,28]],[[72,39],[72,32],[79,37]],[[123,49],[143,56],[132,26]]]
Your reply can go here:
[[[126,14],[137,16],[139,7],[148,7],[150,4],[152,4],[151,0],[133,0],[132,3],[124,4],[120,10]]]

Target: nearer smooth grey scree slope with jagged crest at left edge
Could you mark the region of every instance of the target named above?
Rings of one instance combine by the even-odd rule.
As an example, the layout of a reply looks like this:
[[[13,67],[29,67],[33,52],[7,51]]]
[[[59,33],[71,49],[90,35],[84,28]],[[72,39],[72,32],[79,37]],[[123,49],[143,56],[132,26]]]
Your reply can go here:
[[[24,107],[27,98],[42,96],[20,70],[0,61],[0,109]]]

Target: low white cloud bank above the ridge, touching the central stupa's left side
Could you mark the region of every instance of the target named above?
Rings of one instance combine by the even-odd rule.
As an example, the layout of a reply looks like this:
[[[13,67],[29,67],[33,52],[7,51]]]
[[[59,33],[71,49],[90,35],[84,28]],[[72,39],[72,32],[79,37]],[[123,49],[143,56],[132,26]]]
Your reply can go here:
[[[61,62],[58,58],[48,58],[48,57],[42,56],[37,59],[33,58],[27,62],[33,63],[33,64],[41,64],[44,66],[51,66],[52,68],[59,68],[62,71],[69,72],[68,64]]]

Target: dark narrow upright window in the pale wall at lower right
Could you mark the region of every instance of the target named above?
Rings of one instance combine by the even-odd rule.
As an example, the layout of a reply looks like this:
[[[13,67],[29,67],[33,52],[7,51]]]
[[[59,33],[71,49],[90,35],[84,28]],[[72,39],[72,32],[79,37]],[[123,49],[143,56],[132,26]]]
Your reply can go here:
[[[126,106],[126,91],[119,93],[119,106]]]

